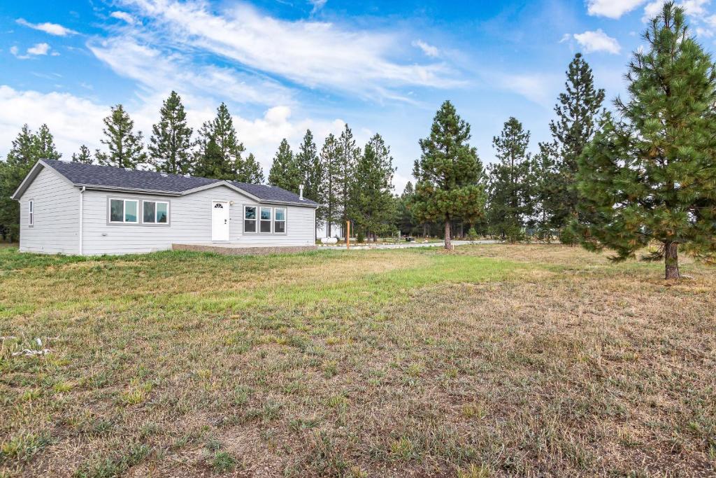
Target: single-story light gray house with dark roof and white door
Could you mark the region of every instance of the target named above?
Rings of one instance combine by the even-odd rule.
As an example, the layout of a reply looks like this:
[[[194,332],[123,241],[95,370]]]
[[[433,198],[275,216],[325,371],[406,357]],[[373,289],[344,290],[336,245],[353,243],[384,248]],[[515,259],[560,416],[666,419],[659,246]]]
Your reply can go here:
[[[12,199],[24,252],[315,247],[318,204],[275,186],[42,160]]]

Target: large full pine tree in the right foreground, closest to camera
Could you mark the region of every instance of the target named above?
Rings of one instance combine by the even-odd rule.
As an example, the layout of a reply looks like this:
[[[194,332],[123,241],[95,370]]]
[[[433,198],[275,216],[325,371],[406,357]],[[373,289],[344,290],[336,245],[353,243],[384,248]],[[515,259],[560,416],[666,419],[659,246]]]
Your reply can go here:
[[[684,11],[664,4],[634,52],[629,99],[615,101],[579,157],[582,244],[615,260],[663,259],[679,277],[678,249],[716,257],[716,68],[687,29]]]

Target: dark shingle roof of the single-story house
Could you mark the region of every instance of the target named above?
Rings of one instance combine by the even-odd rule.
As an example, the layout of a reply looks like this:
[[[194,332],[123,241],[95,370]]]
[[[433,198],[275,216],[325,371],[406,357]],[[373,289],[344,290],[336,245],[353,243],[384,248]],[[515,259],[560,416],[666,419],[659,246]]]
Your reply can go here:
[[[124,189],[127,191],[153,191],[167,194],[181,194],[194,188],[207,186],[213,183],[223,183],[220,179],[198,178],[195,176],[181,176],[180,174],[164,174],[155,171],[135,171],[114,166],[97,166],[95,164],[69,163],[45,159],[47,163],[58,173],[71,181],[75,186],[96,186],[112,189]],[[256,196],[261,201],[304,204],[306,206],[317,206],[314,201],[304,199],[301,201],[299,195],[291,193],[276,186],[263,184],[239,183],[238,181],[226,181],[233,186]]]

